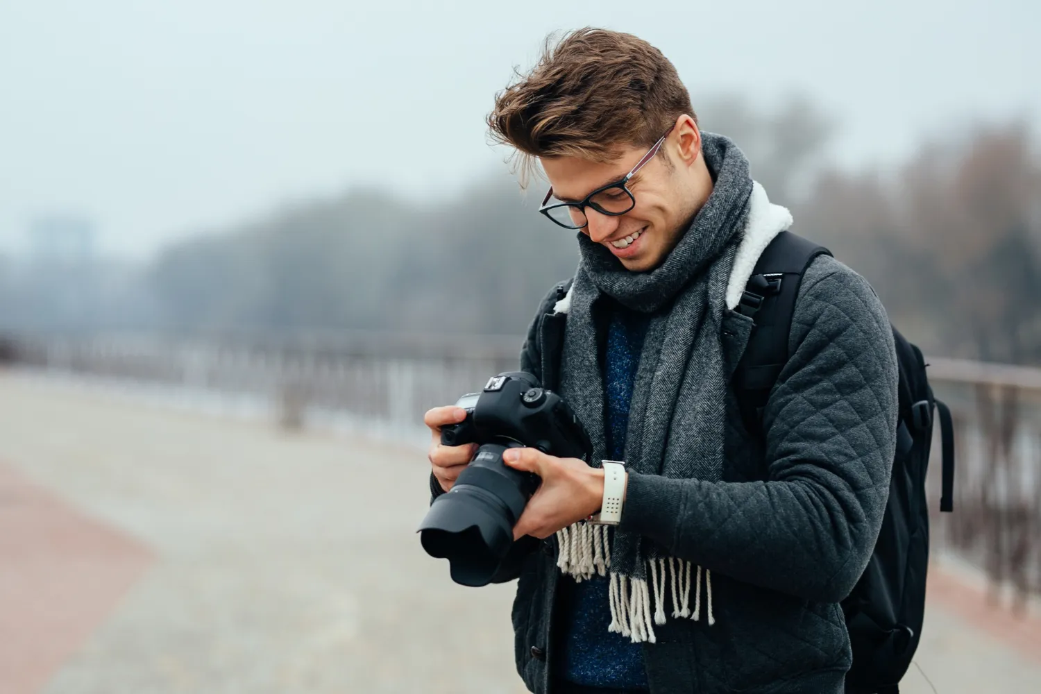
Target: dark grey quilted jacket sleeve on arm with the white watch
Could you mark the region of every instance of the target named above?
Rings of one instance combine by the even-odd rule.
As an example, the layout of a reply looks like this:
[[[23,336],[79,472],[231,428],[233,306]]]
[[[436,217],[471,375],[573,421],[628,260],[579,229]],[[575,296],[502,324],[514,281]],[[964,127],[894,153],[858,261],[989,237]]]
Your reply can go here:
[[[896,446],[896,351],[874,291],[828,256],[804,274],[789,348],[763,414],[766,479],[630,473],[620,528],[733,579],[837,602],[882,526]]]

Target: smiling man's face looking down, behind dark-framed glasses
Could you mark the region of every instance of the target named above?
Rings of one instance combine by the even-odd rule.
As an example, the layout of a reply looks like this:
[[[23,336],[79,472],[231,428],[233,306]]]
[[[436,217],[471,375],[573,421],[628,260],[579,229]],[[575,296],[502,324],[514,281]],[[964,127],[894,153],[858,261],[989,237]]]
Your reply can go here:
[[[610,163],[553,157],[542,158],[541,164],[554,197],[573,202],[623,178],[644,154],[646,148],[628,147],[619,150]],[[671,165],[662,156],[669,157]],[[626,187],[636,200],[633,209],[612,216],[587,206],[588,224],[581,231],[613,253],[626,269],[649,272],[676,248],[691,217],[712,191],[712,179],[701,157],[701,134],[693,122],[681,119],[659,155],[644,164]]]

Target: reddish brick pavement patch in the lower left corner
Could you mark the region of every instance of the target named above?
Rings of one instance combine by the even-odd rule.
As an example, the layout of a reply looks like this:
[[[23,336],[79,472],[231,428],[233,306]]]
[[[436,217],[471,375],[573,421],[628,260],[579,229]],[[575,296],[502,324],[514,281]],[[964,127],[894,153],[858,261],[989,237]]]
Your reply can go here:
[[[39,692],[151,562],[0,464],[0,694]]]

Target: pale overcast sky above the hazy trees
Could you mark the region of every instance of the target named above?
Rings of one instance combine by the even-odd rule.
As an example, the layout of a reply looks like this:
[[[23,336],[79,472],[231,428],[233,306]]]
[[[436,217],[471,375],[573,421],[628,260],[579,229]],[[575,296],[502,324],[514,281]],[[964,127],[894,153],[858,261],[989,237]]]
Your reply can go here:
[[[503,175],[483,118],[548,31],[660,48],[691,91],[836,118],[846,165],[1022,115],[1041,133],[1037,0],[0,0],[0,249],[85,214],[106,253],[378,184]],[[740,143],[739,143],[740,144]]]

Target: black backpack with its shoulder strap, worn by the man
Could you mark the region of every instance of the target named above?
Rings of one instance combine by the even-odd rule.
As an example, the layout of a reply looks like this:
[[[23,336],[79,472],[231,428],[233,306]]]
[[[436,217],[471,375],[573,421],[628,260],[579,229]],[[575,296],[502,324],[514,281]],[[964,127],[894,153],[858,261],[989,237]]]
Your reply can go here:
[[[737,311],[755,322],[734,374],[745,427],[762,431],[762,411],[788,360],[788,332],[804,271],[818,255],[831,255],[790,232],[766,248]],[[929,566],[929,509],[925,471],[933,440],[934,412],[943,444],[940,511],[951,511],[955,475],[950,411],[933,396],[921,351],[893,328],[899,362],[899,427],[882,531],[867,568],[842,600],[853,645],[846,675],[850,694],[895,694],[921,638]]]

